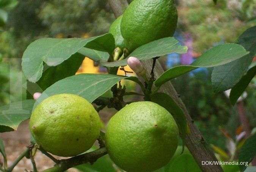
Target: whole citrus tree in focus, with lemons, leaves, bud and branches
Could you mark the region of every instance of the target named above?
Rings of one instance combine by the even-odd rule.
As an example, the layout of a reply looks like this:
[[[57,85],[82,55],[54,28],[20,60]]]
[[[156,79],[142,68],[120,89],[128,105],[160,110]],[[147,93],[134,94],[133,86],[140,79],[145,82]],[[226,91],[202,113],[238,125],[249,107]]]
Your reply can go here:
[[[106,154],[127,171],[152,171],[166,164],[163,171],[191,168],[223,171],[220,164],[203,163],[217,161],[217,158],[193,124],[170,80],[197,68],[214,68],[215,92],[232,88],[230,100],[235,104],[256,73],[255,63],[252,63],[256,26],[240,35],[238,43],[217,45],[191,65],[176,66],[164,72],[157,60],[160,56],[187,52],[187,47],[171,37],[177,25],[174,2],[134,0],[129,6],[126,0],[109,0],[109,3],[117,18],[109,33],[90,38],[41,38],[25,50],[22,71],[28,80],[27,92],[42,94],[34,97],[36,101],[28,99],[1,107],[0,132],[14,131],[19,123],[31,117],[31,144],[7,166],[0,140],[4,159],[0,170],[10,172],[27,157],[31,159],[33,171],[37,171],[34,156],[39,150],[56,163],[44,172],[97,163]],[[75,75],[85,56],[105,66],[108,74]],[[123,69],[126,65],[138,77],[127,76],[130,71]],[[124,75],[117,75],[119,68],[124,70]],[[135,82],[141,93],[127,92],[121,80]],[[112,98],[102,96],[108,90],[112,91]],[[140,95],[144,101],[125,102],[126,95]],[[99,130],[96,113],[105,107],[118,110],[106,134]],[[187,146],[193,157],[184,154],[170,161],[176,154],[178,135],[182,140],[178,154],[187,151],[184,147]],[[83,153],[96,139],[99,149]],[[256,154],[255,140],[254,134],[241,148],[236,164],[241,170],[245,170]],[[74,157],[57,160],[49,152]],[[197,165],[192,167],[192,163],[184,160],[195,161]]]

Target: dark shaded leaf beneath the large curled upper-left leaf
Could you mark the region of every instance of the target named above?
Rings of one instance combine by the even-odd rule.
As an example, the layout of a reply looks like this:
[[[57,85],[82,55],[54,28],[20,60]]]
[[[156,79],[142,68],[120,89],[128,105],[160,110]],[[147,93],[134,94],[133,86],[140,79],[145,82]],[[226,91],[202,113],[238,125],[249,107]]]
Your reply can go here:
[[[44,65],[44,72],[42,77],[36,82],[32,83],[27,81],[27,98],[33,98],[35,92],[42,92],[55,82],[75,75],[79,67],[81,66],[85,57],[79,53],[73,54],[68,60],[63,61],[57,66]]]

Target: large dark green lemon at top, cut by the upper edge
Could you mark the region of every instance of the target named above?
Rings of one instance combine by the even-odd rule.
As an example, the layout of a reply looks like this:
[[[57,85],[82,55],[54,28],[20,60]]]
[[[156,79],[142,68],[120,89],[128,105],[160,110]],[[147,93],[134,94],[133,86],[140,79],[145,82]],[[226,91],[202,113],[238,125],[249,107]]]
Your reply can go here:
[[[177,16],[174,0],[133,0],[121,20],[126,48],[132,52],[151,41],[173,36]]]

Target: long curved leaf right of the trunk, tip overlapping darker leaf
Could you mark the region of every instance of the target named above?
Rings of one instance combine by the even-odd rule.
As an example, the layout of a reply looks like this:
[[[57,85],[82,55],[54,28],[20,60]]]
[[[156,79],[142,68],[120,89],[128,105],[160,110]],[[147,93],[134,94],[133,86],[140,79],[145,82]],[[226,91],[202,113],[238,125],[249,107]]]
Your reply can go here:
[[[242,46],[233,43],[217,45],[203,55],[198,57],[191,65],[181,65],[165,71],[156,81],[155,86],[159,87],[163,83],[176,78],[182,74],[197,68],[210,68],[224,65],[248,54]]]

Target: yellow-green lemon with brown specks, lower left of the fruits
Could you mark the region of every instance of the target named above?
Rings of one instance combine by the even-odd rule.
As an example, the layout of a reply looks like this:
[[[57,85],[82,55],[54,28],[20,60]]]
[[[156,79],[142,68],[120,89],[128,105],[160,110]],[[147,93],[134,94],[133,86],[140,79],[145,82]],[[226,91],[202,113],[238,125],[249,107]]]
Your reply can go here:
[[[43,100],[32,113],[30,131],[36,143],[54,155],[70,157],[90,149],[101,120],[93,105],[74,94]]]

